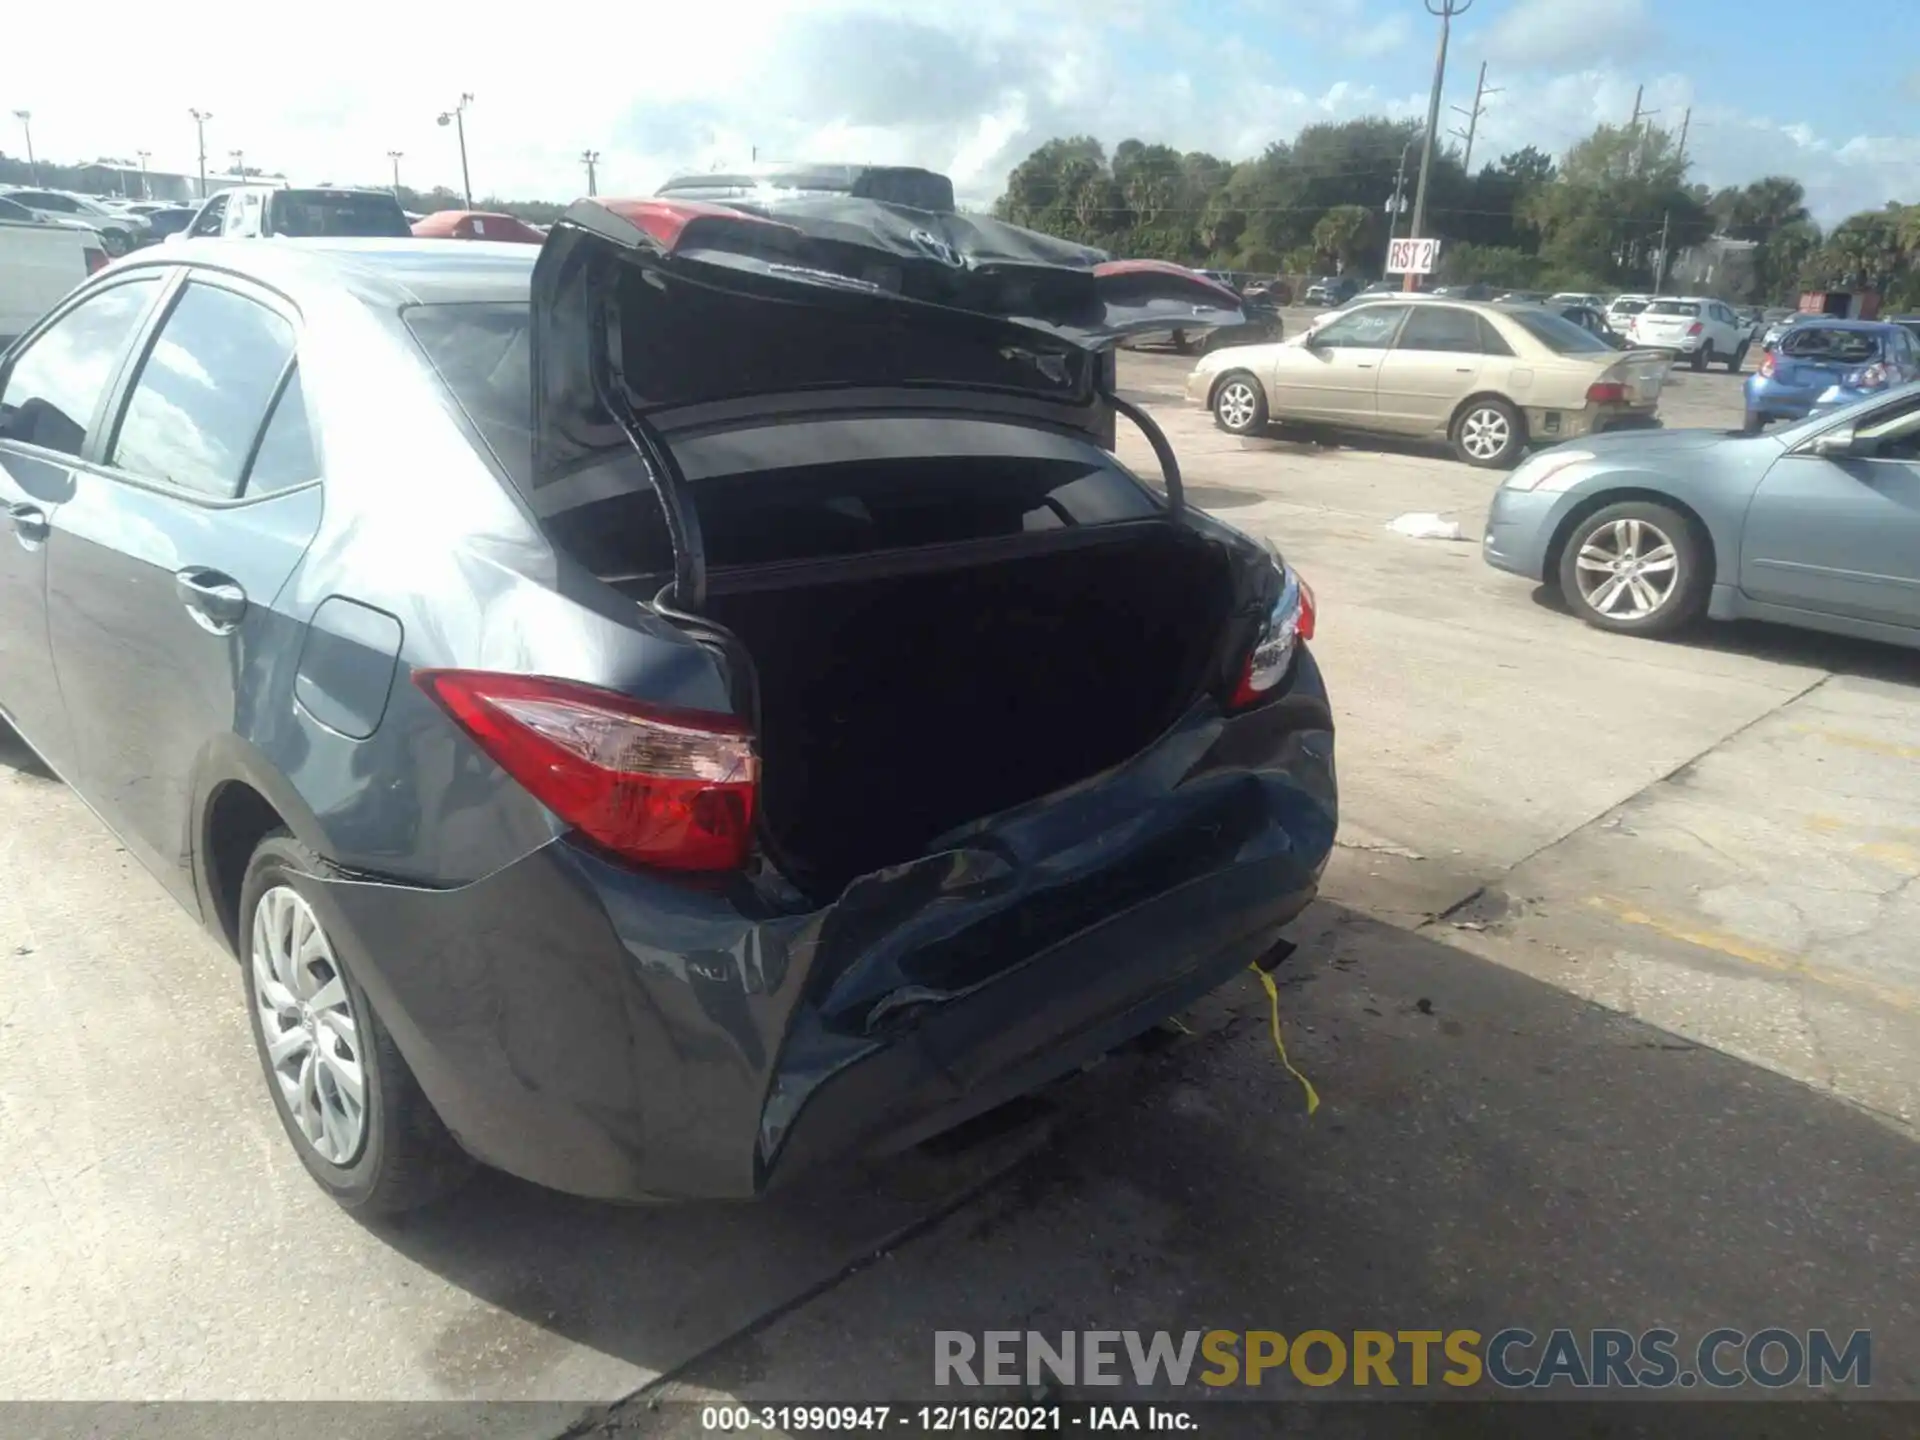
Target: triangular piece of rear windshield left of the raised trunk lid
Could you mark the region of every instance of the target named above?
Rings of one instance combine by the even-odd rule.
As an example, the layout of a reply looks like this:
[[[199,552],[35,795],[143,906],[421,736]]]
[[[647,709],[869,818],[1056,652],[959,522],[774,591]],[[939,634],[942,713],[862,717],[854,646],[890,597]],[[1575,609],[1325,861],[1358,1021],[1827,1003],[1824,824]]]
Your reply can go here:
[[[409,305],[401,319],[516,484],[534,474],[534,390],[524,301]]]

